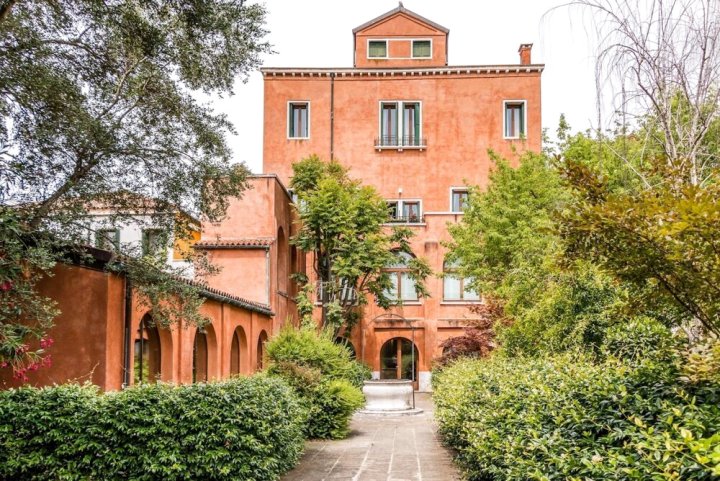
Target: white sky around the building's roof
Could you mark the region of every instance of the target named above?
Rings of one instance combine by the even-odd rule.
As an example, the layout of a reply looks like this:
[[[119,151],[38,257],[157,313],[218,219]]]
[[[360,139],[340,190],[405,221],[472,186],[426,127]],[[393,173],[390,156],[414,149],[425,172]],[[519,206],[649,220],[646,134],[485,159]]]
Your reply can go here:
[[[574,131],[596,125],[594,49],[577,10],[550,11],[562,0],[406,0],[405,8],[450,29],[449,64],[518,63],[521,43],[533,43],[544,63],[543,127],[552,135],[561,113]],[[393,0],[267,0],[266,67],[352,67],[352,29],[397,7]],[[235,124],[236,161],[262,172],[262,75],[254,72],[235,95],[214,102]]]

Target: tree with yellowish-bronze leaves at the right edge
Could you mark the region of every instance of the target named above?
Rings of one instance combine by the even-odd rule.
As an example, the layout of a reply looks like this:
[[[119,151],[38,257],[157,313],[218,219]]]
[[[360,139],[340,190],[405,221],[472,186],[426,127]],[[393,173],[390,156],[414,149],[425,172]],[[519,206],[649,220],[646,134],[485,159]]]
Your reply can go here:
[[[568,255],[597,262],[677,313],[676,325],[698,322],[719,334],[720,186],[618,194],[585,165],[569,162],[566,172],[578,195],[563,216]]]

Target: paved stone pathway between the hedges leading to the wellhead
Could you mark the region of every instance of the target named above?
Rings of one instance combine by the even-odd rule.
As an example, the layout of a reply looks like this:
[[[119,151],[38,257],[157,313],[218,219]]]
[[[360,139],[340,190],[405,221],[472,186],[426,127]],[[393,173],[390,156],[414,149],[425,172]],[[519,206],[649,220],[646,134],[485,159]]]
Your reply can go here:
[[[460,476],[440,444],[429,394],[416,394],[415,416],[356,414],[350,436],[309,441],[300,464],[282,481],[455,481]]]

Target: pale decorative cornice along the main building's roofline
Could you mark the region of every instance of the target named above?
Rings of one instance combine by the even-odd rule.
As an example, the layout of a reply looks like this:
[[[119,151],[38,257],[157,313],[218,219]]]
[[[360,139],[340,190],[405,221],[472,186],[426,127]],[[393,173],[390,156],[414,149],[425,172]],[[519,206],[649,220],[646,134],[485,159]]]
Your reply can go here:
[[[505,75],[542,73],[544,64],[457,65],[431,68],[262,68],[264,77],[425,77],[442,75]]]

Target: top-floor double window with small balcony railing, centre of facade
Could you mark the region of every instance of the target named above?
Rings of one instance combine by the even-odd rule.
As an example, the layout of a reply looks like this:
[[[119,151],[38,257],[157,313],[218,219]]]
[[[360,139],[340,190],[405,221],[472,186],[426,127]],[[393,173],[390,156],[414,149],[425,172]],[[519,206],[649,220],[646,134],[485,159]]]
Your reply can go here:
[[[380,102],[380,147],[424,147],[422,112],[418,101]]]

